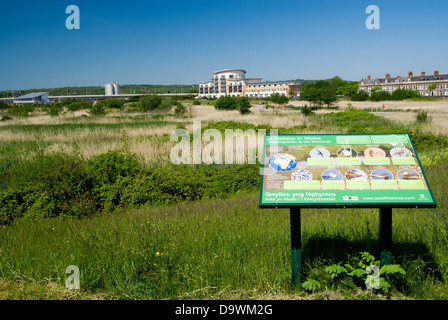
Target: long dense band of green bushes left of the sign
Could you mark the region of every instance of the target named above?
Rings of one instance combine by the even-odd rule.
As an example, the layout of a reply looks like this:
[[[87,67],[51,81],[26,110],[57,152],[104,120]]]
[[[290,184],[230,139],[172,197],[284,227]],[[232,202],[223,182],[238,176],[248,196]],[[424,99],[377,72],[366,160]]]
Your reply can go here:
[[[135,155],[118,151],[89,160],[37,153],[8,170],[10,184],[0,191],[0,224],[222,198],[259,187],[258,165],[144,168]]]

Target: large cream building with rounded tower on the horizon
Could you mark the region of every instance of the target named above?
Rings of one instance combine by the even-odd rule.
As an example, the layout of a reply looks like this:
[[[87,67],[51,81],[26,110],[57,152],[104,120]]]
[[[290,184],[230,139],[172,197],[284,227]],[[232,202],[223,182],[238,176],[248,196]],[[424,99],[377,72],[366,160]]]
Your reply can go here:
[[[298,96],[300,82],[261,81],[261,78],[246,78],[242,69],[225,69],[213,72],[210,81],[199,83],[199,97],[220,98],[223,96],[270,97],[274,93],[284,96]]]

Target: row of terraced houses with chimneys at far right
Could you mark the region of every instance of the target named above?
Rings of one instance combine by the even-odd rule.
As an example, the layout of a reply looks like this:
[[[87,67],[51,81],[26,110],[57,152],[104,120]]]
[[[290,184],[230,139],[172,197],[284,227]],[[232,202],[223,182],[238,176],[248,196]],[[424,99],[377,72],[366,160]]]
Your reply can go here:
[[[358,89],[370,93],[373,88],[379,87],[381,90],[392,93],[396,89],[409,89],[419,92],[427,97],[448,97],[448,74],[439,74],[434,71],[432,75],[426,75],[424,71],[419,76],[414,76],[412,71],[408,72],[407,77],[391,77],[386,73],[384,78],[361,79]]]

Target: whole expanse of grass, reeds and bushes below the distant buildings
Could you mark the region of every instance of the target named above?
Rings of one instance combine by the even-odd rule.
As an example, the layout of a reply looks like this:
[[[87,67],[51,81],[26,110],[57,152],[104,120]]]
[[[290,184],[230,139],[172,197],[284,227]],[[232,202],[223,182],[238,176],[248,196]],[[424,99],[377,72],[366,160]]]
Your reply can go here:
[[[350,107],[241,117],[215,105],[190,116],[192,102],[171,100],[165,112],[146,99],[151,107],[138,114],[135,101],[105,105],[101,117],[70,116],[80,107],[71,102],[47,116],[51,124],[4,120],[0,299],[448,298],[448,189],[440,174],[448,170],[448,137],[431,133],[426,111],[407,125]],[[3,116],[15,118],[9,109]],[[45,112],[25,111],[17,114]],[[378,266],[377,210],[304,209],[296,289],[289,211],[259,209],[260,165],[169,162],[170,133],[191,132],[192,120],[203,121],[202,132],[409,132],[438,206],[394,209],[393,266],[380,271],[380,289],[368,289],[361,272]],[[65,289],[69,265],[80,269],[80,290]]]

